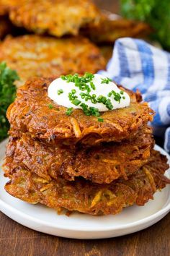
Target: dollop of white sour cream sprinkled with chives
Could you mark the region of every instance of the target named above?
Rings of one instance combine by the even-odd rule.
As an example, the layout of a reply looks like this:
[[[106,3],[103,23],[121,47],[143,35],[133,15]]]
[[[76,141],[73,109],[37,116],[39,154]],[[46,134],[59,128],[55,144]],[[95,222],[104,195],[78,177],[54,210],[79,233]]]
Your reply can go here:
[[[104,82],[104,80],[107,82]],[[87,83],[87,85],[89,85],[89,88],[91,88],[91,92],[89,93],[89,95],[96,95],[96,98],[101,95],[103,97],[106,97],[111,101],[113,106],[112,109],[125,108],[130,105],[130,96],[128,95],[128,93],[125,93],[125,91],[122,92],[122,90],[120,90],[114,82],[108,80],[108,78],[103,76],[102,74],[94,74],[91,82],[93,82],[95,88],[92,89],[90,83]],[[61,77],[53,80],[53,82],[50,83],[48,87],[48,97],[51,98],[58,105],[64,106],[66,108],[81,109],[81,103],[76,106],[68,97],[69,93],[71,93],[71,91],[73,90],[76,90],[76,93],[74,95],[77,96],[77,99],[81,101],[81,103],[85,103],[86,105],[88,105],[88,107],[98,108],[99,112],[110,110],[102,102],[93,103],[90,99],[86,101],[85,98],[81,98],[80,93],[82,93],[82,90],[79,87],[76,87],[75,82],[67,82]],[[120,101],[117,101],[115,99],[115,93],[110,95],[112,91],[118,93],[121,96]],[[86,93],[86,91],[83,91],[83,93]]]

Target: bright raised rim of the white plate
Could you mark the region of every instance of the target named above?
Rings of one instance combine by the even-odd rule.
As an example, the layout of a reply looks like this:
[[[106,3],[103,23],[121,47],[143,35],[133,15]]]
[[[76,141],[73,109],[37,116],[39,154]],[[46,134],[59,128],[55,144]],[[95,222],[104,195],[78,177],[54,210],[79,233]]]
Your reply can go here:
[[[161,153],[163,153],[164,155],[167,156],[168,160],[170,161],[170,155],[168,153],[166,153],[166,151],[161,148],[158,145],[155,145],[155,149],[158,151],[161,151]],[[168,204],[164,207],[161,208],[160,210],[158,210],[156,213],[151,214],[151,216],[147,216],[145,218],[142,218],[141,220],[138,221],[134,221],[131,223],[124,223],[121,226],[101,226],[101,227],[91,227],[91,226],[73,226],[73,225],[69,225],[69,226],[63,226],[60,223],[50,223],[48,221],[42,221],[36,217],[32,217],[30,215],[28,215],[27,213],[22,213],[21,211],[17,210],[16,208],[12,207],[11,205],[9,205],[8,203],[4,202],[4,200],[1,200],[0,198],[0,210],[1,208],[4,207],[7,210],[9,210],[10,212],[14,213],[17,216],[21,216],[24,219],[27,219],[27,221],[33,221],[35,223],[38,223],[42,226],[46,226],[48,228],[53,228],[53,229],[61,229],[64,231],[88,231],[88,232],[94,232],[94,231],[100,231],[100,232],[104,232],[104,231],[122,231],[123,229],[130,229],[133,228],[135,226],[140,226],[143,224],[146,224],[150,221],[154,221],[156,218],[164,216],[166,214],[169,213],[170,211],[170,200],[168,202]],[[139,206],[140,207],[140,206]],[[1,210],[3,212],[3,210]],[[5,214],[5,213],[4,213]],[[99,216],[94,216],[94,218],[99,217]]]

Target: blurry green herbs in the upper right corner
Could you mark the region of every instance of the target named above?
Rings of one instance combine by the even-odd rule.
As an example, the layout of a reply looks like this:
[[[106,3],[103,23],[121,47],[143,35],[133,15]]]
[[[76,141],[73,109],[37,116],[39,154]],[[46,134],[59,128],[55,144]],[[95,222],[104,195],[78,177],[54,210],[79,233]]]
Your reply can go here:
[[[147,22],[153,28],[151,38],[170,50],[170,1],[121,0],[121,13],[127,19]]]

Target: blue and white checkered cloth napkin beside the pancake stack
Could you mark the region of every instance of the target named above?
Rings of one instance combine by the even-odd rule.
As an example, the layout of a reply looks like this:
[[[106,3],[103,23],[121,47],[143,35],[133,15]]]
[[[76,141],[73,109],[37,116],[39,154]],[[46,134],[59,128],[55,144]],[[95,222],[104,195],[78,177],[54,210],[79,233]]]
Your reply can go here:
[[[139,89],[143,100],[156,111],[153,132],[164,136],[164,148],[170,152],[170,54],[143,40],[120,38],[107,71],[99,71],[131,90]]]

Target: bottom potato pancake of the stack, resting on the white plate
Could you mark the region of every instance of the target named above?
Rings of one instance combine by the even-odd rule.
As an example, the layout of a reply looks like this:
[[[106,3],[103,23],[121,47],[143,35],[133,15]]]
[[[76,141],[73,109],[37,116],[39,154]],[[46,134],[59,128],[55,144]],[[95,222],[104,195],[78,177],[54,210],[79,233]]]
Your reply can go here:
[[[153,199],[157,189],[170,183],[164,176],[169,168],[166,161],[166,156],[153,150],[149,162],[136,174],[111,184],[92,184],[84,179],[48,181],[18,166],[5,189],[21,200],[32,204],[40,202],[55,210],[66,208],[92,215],[117,214],[130,205],[144,205]]]

